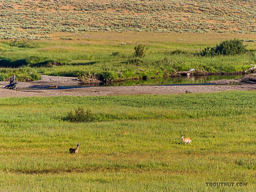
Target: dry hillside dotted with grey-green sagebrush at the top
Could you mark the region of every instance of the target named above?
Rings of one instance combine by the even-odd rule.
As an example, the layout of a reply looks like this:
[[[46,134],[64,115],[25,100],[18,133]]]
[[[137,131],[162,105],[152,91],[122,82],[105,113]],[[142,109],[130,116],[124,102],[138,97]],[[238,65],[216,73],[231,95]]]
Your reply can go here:
[[[0,0],[0,38],[97,30],[255,33],[255,5],[253,0]]]

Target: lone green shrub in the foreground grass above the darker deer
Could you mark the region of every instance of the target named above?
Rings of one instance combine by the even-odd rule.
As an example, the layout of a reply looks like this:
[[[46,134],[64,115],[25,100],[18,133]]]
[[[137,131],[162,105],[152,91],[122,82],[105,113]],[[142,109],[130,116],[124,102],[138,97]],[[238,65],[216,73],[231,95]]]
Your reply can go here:
[[[91,113],[90,109],[84,110],[82,107],[79,107],[75,111],[70,111],[64,120],[74,123],[87,123],[95,121],[96,116]]]

